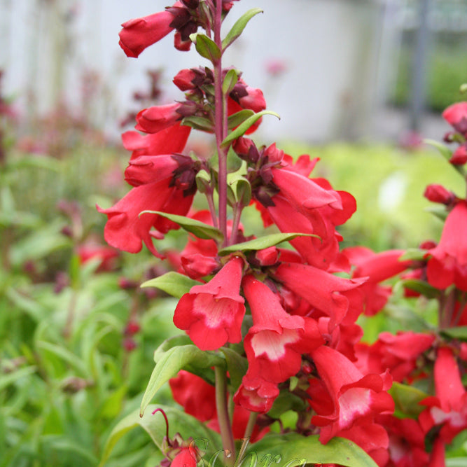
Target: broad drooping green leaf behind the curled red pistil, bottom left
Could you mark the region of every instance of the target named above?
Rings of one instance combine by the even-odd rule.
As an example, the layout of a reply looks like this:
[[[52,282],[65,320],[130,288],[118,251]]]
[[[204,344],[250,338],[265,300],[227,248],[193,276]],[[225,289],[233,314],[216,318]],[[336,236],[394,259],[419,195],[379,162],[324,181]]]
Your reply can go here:
[[[180,433],[184,440],[188,440],[190,437],[194,440],[200,440],[199,444],[197,443],[197,446],[202,449],[206,449],[207,456],[210,456],[216,447],[221,445],[221,439],[218,433],[210,430],[199,420],[195,419],[195,417],[191,417],[191,415],[188,415],[179,409],[157,404],[149,405],[148,409],[149,411],[146,412],[143,417],[140,417],[139,412],[135,411],[118,422],[106,441],[99,467],[103,467],[105,465],[113,448],[116,446],[120,438],[136,426],[141,426],[141,428],[151,436],[154,444],[162,451],[162,442],[167,431],[165,418],[162,414],[152,414],[156,409],[164,410],[167,415],[167,419],[169,419],[169,436],[173,437],[175,433]],[[205,442],[202,442],[202,440],[205,440]]]

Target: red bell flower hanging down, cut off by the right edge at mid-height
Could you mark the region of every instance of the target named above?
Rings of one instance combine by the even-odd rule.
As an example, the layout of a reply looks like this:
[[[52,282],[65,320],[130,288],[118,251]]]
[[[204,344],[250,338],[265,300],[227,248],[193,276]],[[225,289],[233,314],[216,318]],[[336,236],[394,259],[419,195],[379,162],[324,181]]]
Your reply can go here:
[[[467,291],[467,202],[459,201],[447,216],[438,246],[428,250],[428,282],[440,289],[451,284]]]

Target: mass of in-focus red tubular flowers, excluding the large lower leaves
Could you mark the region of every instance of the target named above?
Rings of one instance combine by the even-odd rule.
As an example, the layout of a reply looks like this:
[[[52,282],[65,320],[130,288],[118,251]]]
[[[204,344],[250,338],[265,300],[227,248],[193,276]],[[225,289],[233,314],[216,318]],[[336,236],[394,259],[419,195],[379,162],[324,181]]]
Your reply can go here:
[[[210,37],[216,15],[224,16],[232,7],[232,1],[219,4],[221,13],[211,1],[177,1],[161,13],[126,22],[120,45],[127,55],[137,57],[175,29],[176,48],[188,50],[190,34],[202,27]],[[354,197],[311,176],[317,159],[302,155],[293,161],[275,144],[258,147],[242,135],[232,139],[230,150],[241,162],[239,177],[248,189],[243,188],[242,196],[231,190],[223,200],[221,162],[183,154],[190,131],[218,136],[219,122],[235,129],[245,111],[250,116],[266,105],[263,93],[246,85],[237,71],[235,83],[227,88],[232,70],[216,69],[220,63],[216,57],[213,63],[214,69],[177,74],[174,83],[185,92],[184,101],[139,112],[136,129],[146,136],[123,134],[125,148],[132,151],[125,171],[132,190],[115,206],[99,208],[108,216],[106,241],[132,253],[145,244],[163,258],[153,240],[183,225],[170,216],[174,214],[225,232],[221,237],[192,234],[183,251],[167,256],[180,274],[199,281],[179,300],[175,325],[199,349],[216,351],[230,345],[248,363],[241,384],[230,384],[226,395],[235,406],[230,426],[235,438],[245,435],[251,413],[259,417],[247,434],[253,440],[265,435],[274,422],[268,412],[279,395],[286,394],[300,400],[301,408],[295,404],[294,409],[295,431],[302,435],[319,434],[323,443],[335,436],[353,440],[379,466],[444,465],[445,444],[467,428],[467,396],[458,366],[459,358],[466,361],[466,344],[412,331],[382,333],[374,344],[363,344],[356,320],[361,314],[379,312],[391,294],[391,287],[380,283],[410,268],[407,280],[426,281],[438,291],[442,316],[449,314],[447,326],[467,323],[467,237],[459,235],[467,231],[466,200],[439,186],[428,188],[428,199],[445,204],[449,214],[439,244],[422,249],[417,260],[400,260],[404,252],[398,250],[341,251],[336,228],[354,213]],[[216,116],[219,80],[225,92],[221,119]],[[445,118],[464,139],[451,160],[460,166],[466,162],[461,153],[467,103],[447,109]],[[254,132],[259,123],[256,119],[242,134]],[[219,159],[222,147],[217,148]],[[232,208],[232,221],[225,219],[224,226],[214,209],[214,190],[219,204],[225,201]],[[196,193],[207,196],[209,210],[193,209]],[[265,227],[299,233],[290,239],[293,249],[281,248],[279,242],[251,246],[255,237],[246,237],[239,223],[248,204],[258,209]],[[435,395],[422,401],[425,408],[418,419],[393,415],[394,401],[388,393],[393,381],[428,380],[426,368],[433,365],[433,358]],[[188,414],[213,429],[225,429],[214,386],[186,371],[170,385]],[[435,427],[430,454],[426,437]],[[187,452],[188,448],[181,449],[172,465],[195,465],[195,457]]]

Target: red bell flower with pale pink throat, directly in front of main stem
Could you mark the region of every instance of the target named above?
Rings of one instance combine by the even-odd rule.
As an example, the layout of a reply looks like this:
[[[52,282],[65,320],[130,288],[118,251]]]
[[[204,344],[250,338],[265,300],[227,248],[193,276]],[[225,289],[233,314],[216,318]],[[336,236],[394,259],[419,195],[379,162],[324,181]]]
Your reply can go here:
[[[201,350],[216,350],[225,342],[242,340],[242,267],[243,260],[235,256],[207,284],[192,287],[176,306],[175,326],[186,330]]]

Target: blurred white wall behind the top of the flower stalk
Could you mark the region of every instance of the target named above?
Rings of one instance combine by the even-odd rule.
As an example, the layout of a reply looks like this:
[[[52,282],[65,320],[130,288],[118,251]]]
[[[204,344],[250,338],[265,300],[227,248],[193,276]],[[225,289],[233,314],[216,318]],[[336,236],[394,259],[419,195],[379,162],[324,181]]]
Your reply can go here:
[[[170,83],[174,74],[202,64],[194,50],[176,51],[172,34],[138,59],[125,57],[118,47],[122,22],[160,11],[167,1],[60,0],[60,8],[53,8],[57,2],[0,0],[4,89],[18,92],[22,96],[18,103],[27,112],[50,110],[60,88],[66,88],[67,100],[78,105],[81,73],[95,70],[102,88],[91,113],[95,123],[106,120],[107,128],[116,133],[118,118],[134,108],[132,92],[147,87],[146,69],[165,69],[167,99],[173,99],[181,97]],[[262,88],[268,108],[281,115],[280,122],[266,117],[263,136],[323,141],[368,132],[380,64],[381,4],[242,0],[232,8],[230,24],[256,6],[264,14],[251,20],[224,64],[244,71],[244,80]],[[267,60],[283,60],[286,73],[271,78],[265,71]],[[34,99],[26,98],[27,90],[34,91]]]

